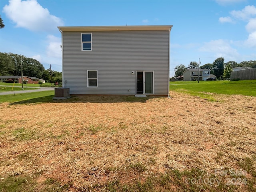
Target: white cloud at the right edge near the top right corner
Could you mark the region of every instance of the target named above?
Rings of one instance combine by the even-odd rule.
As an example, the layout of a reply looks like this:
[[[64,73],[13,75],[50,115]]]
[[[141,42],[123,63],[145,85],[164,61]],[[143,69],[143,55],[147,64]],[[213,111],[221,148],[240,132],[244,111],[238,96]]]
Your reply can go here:
[[[252,16],[256,15],[256,7],[253,5],[248,5],[244,9],[236,11],[233,10],[230,14],[237,19],[240,20],[249,20]]]

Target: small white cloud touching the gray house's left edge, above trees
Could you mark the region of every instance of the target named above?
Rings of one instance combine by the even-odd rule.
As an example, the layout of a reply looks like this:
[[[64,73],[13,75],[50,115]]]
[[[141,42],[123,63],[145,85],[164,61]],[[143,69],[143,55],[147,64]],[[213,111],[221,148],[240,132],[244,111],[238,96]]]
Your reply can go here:
[[[54,35],[48,35],[47,36],[48,40],[48,46],[46,48],[46,54],[48,57],[53,57],[53,58],[61,58],[62,57],[62,52],[61,52],[61,38],[58,38]]]

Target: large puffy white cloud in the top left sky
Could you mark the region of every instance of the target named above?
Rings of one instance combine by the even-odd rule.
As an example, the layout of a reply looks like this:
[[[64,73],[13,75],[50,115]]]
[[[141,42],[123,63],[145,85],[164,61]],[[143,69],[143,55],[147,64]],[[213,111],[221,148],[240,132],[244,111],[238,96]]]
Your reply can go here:
[[[63,26],[63,21],[51,15],[47,8],[43,8],[36,0],[9,0],[3,12],[16,23],[16,27],[23,27],[31,31],[53,32],[57,26]]]

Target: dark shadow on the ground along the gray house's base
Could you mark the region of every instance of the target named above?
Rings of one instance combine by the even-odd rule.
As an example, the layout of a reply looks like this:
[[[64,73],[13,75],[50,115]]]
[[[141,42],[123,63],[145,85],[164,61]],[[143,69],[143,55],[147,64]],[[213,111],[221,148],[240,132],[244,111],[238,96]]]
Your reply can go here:
[[[68,99],[53,99],[54,95],[22,100],[10,103],[16,104],[36,104],[36,103],[123,103],[123,102],[140,102],[146,103],[152,98],[167,98],[167,96],[147,96],[144,98],[135,97],[134,95],[72,95]]]

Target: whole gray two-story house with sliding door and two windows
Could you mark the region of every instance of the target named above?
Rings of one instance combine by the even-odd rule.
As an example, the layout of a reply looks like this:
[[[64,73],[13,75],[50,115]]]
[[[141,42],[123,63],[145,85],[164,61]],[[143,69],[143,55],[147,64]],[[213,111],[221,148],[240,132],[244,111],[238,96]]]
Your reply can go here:
[[[70,94],[169,94],[172,26],[58,28]]]

